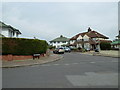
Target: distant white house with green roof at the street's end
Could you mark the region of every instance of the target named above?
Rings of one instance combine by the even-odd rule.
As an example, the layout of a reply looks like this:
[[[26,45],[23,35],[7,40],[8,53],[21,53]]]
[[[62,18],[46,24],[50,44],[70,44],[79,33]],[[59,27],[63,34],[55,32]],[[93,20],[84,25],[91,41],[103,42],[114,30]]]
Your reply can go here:
[[[62,35],[54,40],[50,41],[50,45],[55,46],[56,48],[61,46],[66,46],[69,43],[69,39],[66,37],[63,37]]]

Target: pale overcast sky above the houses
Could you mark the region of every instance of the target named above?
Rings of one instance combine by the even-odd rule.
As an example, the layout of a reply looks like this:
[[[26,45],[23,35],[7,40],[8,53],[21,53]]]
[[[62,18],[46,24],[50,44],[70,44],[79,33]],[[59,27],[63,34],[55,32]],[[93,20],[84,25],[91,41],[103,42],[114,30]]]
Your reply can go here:
[[[6,2],[2,21],[19,29],[20,37],[50,41],[60,35],[71,38],[91,27],[113,40],[118,35],[118,3]]]

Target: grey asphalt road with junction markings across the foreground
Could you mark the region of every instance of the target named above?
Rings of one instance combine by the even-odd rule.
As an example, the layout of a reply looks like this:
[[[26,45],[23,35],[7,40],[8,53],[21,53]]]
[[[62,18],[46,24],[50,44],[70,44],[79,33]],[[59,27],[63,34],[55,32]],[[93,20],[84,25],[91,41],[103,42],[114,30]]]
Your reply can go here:
[[[65,53],[59,61],[3,69],[3,88],[116,88],[118,59]]]

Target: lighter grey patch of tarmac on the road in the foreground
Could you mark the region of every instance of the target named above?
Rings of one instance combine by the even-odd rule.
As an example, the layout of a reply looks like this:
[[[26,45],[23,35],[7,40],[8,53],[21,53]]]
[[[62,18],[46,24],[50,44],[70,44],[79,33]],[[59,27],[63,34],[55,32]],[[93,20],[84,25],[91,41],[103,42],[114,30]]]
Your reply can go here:
[[[118,87],[118,73],[94,73],[86,72],[85,75],[66,75],[73,86],[95,87],[113,86]]]

